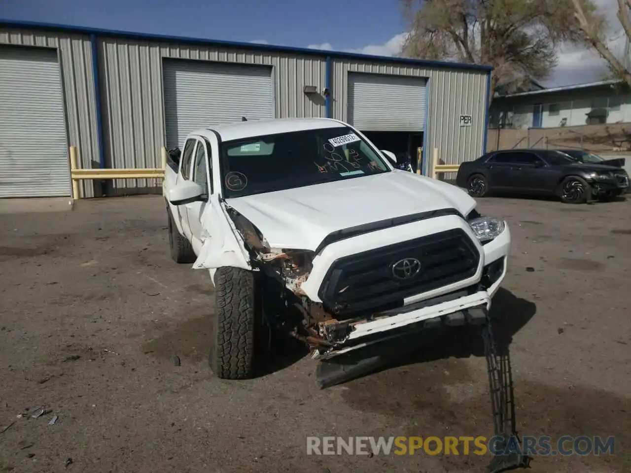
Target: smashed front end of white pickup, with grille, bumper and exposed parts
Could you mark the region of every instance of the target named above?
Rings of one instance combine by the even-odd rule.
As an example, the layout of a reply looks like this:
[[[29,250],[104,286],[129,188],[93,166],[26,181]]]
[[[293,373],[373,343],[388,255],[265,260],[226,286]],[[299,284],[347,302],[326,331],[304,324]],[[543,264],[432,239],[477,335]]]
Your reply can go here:
[[[313,358],[333,358],[434,327],[483,324],[493,291],[505,274],[505,255],[491,264],[481,263],[480,247],[462,228],[450,228],[449,222],[439,233],[347,253],[323,269],[314,251],[272,247],[244,215],[230,206],[226,211],[252,268],[264,275],[263,312],[269,325],[307,344]],[[475,226],[484,219],[475,212],[471,218],[459,225]],[[498,231],[504,232],[504,226]],[[504,238],[509,241],[507,230]],[[427,251],[432,252],[425,256],[428,266],[418,279],[392,277],[392,271],[407,271],[405,264],[418,264],[411,255]],[[318,281],[323,278],[321,284],[308,281],[316,271]],[[445,293],[443,288],[450,283],[453,289]],[[415,296],[419,293],[422,298]]]

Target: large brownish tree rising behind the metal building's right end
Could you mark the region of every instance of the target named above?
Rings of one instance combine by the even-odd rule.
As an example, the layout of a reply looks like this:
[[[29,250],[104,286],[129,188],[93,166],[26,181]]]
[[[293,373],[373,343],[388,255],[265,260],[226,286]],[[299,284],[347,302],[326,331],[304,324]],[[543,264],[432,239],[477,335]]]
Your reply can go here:
[[[571,0],[401,1],[410,28],[401,54],[493,66],[492,97],[498,85],[510,92],[547,78],[557,46],[580,40]]]

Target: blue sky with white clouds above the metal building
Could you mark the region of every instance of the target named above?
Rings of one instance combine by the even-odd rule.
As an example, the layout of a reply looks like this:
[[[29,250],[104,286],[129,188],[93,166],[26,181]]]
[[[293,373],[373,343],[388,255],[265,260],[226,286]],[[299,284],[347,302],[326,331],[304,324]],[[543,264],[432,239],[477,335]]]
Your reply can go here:
[[[615,1],[595,1],[608,18],[615,18]],[[377,55],[399,51],[405,34],[400,12],[398,0],[0,0],[0,18],[5,20]],[[564,47],[557,68],[543,84],[598,81],[605,73],[604,62],[594,52]]]

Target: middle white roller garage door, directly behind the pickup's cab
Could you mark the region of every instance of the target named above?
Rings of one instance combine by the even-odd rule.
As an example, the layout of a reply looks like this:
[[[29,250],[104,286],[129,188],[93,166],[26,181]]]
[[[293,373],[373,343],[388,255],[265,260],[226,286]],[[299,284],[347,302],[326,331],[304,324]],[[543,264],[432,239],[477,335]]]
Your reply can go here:
[[[196,128],[274,117],[271,67],[165,59],[167,146]]]

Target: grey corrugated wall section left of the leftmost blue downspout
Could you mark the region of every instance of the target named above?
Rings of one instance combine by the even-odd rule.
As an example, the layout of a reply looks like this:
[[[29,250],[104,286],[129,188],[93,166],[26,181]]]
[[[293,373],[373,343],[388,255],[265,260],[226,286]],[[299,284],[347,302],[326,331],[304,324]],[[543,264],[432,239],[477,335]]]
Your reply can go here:
[[[94,100],[90,37],[69,33],[0,28],[0,44],[49,47],[59,50],[66,103],[68,146],[79,150],[84,168],[98,167],[97,114]],[[95,163],[92,165],[92,163]],[[83,195],[93,197],[85,181]]]

